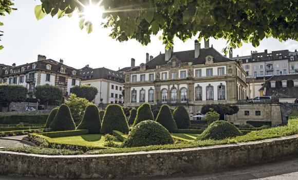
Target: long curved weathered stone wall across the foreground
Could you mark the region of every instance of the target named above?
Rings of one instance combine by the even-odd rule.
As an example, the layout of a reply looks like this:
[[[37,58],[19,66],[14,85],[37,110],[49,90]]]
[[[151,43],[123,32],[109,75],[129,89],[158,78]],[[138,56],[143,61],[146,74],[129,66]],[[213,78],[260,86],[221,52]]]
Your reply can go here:
[[[232,145],[103,155],[49,156],[0,151],[0,174],[112,178],[206,173],[298,154],[298,135]]]

